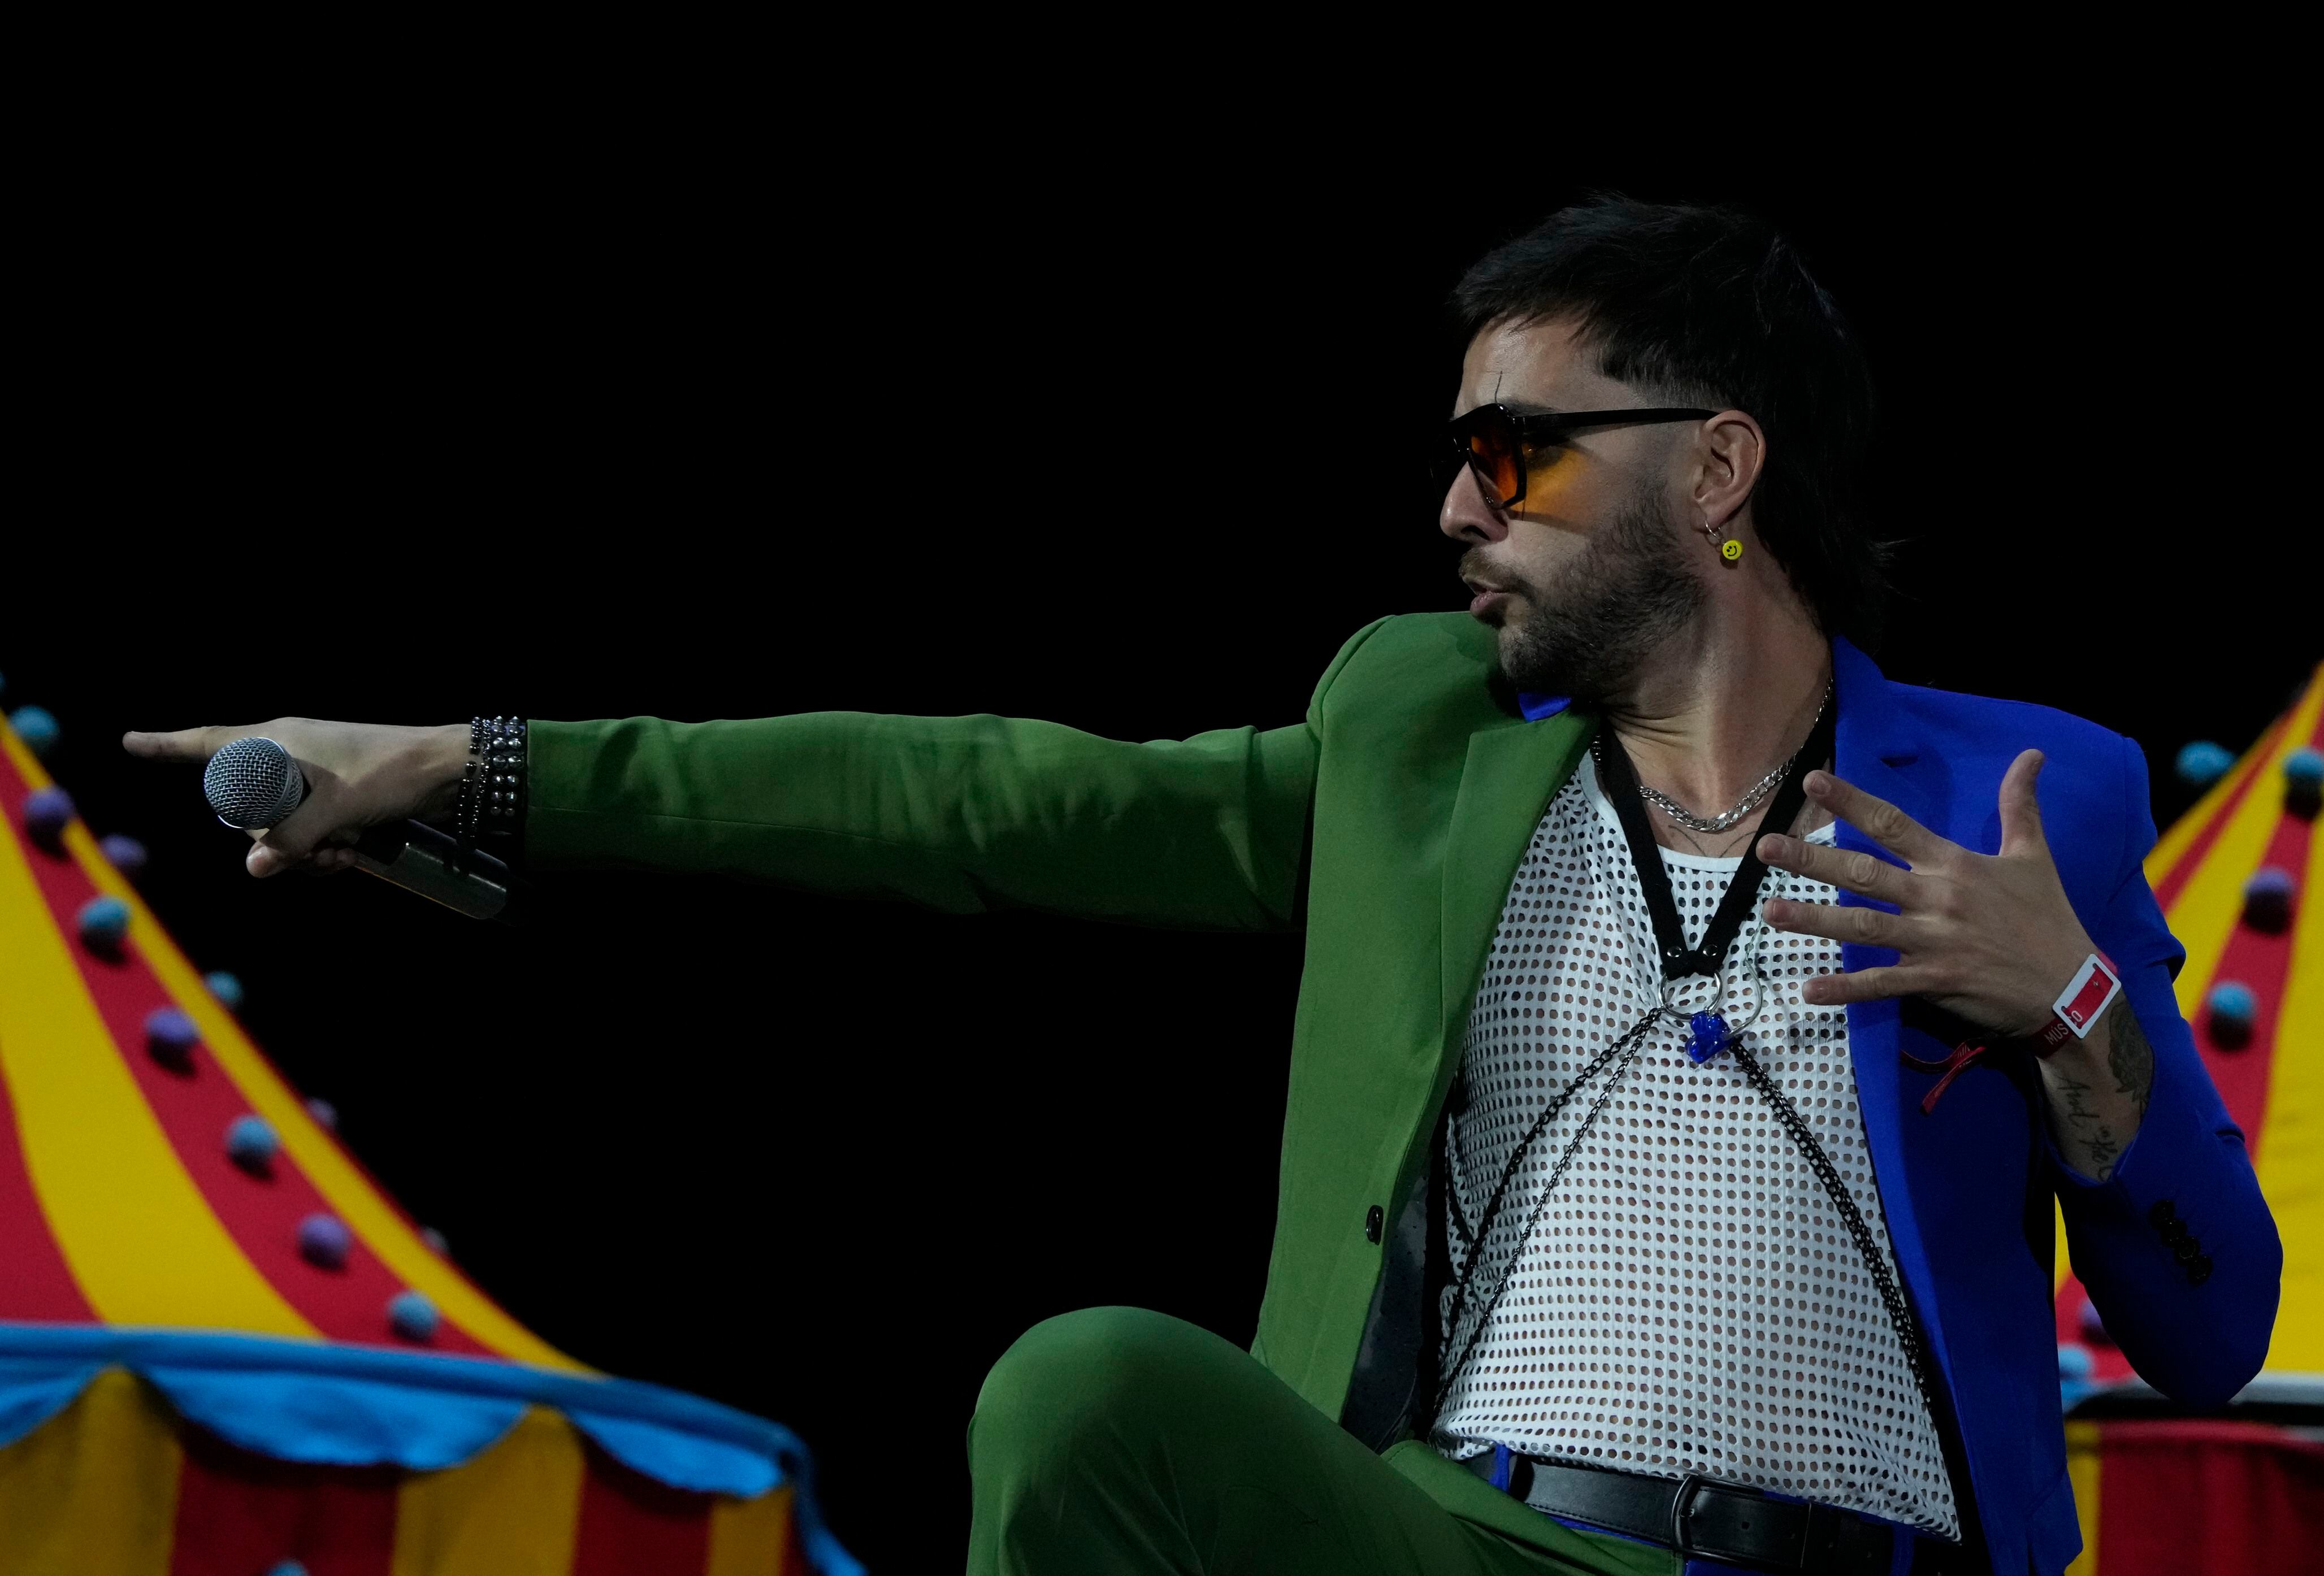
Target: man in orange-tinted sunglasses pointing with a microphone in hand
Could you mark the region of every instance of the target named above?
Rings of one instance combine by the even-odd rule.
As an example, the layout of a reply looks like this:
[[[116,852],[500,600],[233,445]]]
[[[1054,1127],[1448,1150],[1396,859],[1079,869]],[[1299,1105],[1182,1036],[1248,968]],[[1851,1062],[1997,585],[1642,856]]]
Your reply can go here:
[[[1455,305],[1476,600],[1360,630],[1290,728],[128,746],[307,762],[253,874],[449,811],[544,867],[1304,930],[1257,1339],[1030,1330],[969,1425],[971,1571],[2061,1571],[2052,1197],[2192,1406],[2259,1369],[2282,1265],[2173,1004],[2145,762],[1855,644],[1871,384],[1764,223],[1590,202]]]

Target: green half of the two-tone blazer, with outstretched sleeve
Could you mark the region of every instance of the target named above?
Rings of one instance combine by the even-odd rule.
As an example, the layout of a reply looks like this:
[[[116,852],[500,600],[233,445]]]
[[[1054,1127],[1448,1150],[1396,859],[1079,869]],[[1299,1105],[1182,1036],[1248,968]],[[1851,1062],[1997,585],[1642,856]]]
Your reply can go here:
[[[953,914],[1306,930],[1253,1355],[1339,1418],[1383,1248],[1418,1223],[1501,902],[1590,737],[1573,716],[1525,723],[1490,674],[1490,630],[1427,614],[1360,630],[1306,721],[1274,730],[1122,744],[999,716],[535,723],[528,858]]]

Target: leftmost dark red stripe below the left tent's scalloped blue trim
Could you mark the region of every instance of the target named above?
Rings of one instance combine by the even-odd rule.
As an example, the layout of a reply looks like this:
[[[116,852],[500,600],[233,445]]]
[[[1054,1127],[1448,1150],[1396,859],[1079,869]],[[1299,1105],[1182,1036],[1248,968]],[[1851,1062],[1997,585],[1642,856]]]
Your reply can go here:
[[[297,1560],[307,1576],[388,1576],[395,1564],[393,1467],[304,1467],[179,1430],[170,1576],[258,1576]]]

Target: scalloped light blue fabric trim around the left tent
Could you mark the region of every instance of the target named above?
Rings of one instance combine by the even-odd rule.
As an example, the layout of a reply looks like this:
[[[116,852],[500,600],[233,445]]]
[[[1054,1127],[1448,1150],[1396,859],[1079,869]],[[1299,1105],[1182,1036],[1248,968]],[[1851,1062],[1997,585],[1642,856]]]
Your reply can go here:
[[[230,1444],[325,1467],[458,1467],[525,1406],[551,1406],[669,1488],[755,1499],[792,1483],[792,1525],[813,1567],[862,1571],[823,1527],[813,1460],[790,1430],[632,1378],[207,1330],[0,1323],[0,1446],[60,1413],[107,1367],[137,1374]]]

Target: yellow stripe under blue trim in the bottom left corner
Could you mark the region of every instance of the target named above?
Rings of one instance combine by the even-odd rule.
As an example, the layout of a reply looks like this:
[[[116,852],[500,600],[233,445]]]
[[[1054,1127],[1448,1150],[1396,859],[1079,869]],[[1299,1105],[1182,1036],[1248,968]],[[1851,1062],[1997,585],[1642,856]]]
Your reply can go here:
[[[167,1576],[184,1457],[125,1369],[0,1450],[0,1576]]]

